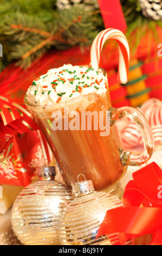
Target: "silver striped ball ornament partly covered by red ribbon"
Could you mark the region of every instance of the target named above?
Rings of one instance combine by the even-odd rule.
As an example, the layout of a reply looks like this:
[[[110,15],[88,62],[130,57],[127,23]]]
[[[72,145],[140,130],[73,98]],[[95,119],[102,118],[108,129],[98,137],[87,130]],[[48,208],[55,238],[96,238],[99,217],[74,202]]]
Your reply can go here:
[[[117,234],[98,239],[96,235],[107,210],[124,207],[121,200],[111,194],[94,191],[91,180],[78,180],[72,189],[75,199],[64,209],[60,220],[61,245],[113,245],[118,241]]]

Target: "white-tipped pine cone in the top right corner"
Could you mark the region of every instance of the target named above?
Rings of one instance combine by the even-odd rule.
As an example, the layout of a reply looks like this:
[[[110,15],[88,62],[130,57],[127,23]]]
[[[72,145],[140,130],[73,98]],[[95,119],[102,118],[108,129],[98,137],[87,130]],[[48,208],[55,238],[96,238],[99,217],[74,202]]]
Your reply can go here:
[[[139,0],[142,8],[142,14],[155,21],[162,19],[162,1],[161,0]]]

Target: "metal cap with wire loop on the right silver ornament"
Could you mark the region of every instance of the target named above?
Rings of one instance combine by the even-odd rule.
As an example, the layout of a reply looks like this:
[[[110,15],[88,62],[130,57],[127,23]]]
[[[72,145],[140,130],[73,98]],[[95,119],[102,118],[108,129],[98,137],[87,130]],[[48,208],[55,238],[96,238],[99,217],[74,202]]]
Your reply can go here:
[[[79,176],[81,175],[85,178],[84,181],[79,181]],[[77,182],[72,184],[72,193],[75,194],[75,197],[81,197],[92,192],[94,192],[92,180],[86,180],[85,175],[79,174],[77,176]]]

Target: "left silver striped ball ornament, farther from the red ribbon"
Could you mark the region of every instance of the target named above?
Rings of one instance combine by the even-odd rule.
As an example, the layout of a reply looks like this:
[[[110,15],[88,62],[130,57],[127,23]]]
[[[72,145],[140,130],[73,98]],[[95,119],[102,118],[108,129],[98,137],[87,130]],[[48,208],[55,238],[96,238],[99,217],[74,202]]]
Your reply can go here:
[[[60,245],[60,217],[74,197],[55,175],[55,167],[41,168],[39,180],[24,188],[12,206],[12,229],[23,245]]]

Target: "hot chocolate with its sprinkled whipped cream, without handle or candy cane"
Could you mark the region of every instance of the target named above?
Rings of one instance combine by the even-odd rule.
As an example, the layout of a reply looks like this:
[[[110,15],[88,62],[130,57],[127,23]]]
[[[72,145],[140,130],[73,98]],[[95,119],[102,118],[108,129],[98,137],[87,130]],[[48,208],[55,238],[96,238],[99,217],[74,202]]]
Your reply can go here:
[[[102,70],[72,65],[49,70],[28,89],[27,100],[43,105],[33,115],[68,186],[82,173],[86,179],[93,180],[95,190],[102,190],[125,173],[126,168],[120,162],[122,145],[118,132],[115,126],[107,126],[107,111],[111,106],[107,78]],[[85,115],[82,120],[83,113],[92,115]],[[71,127],[70,122],[73,122]],[[88,129],[90,122],[92,129]]]

